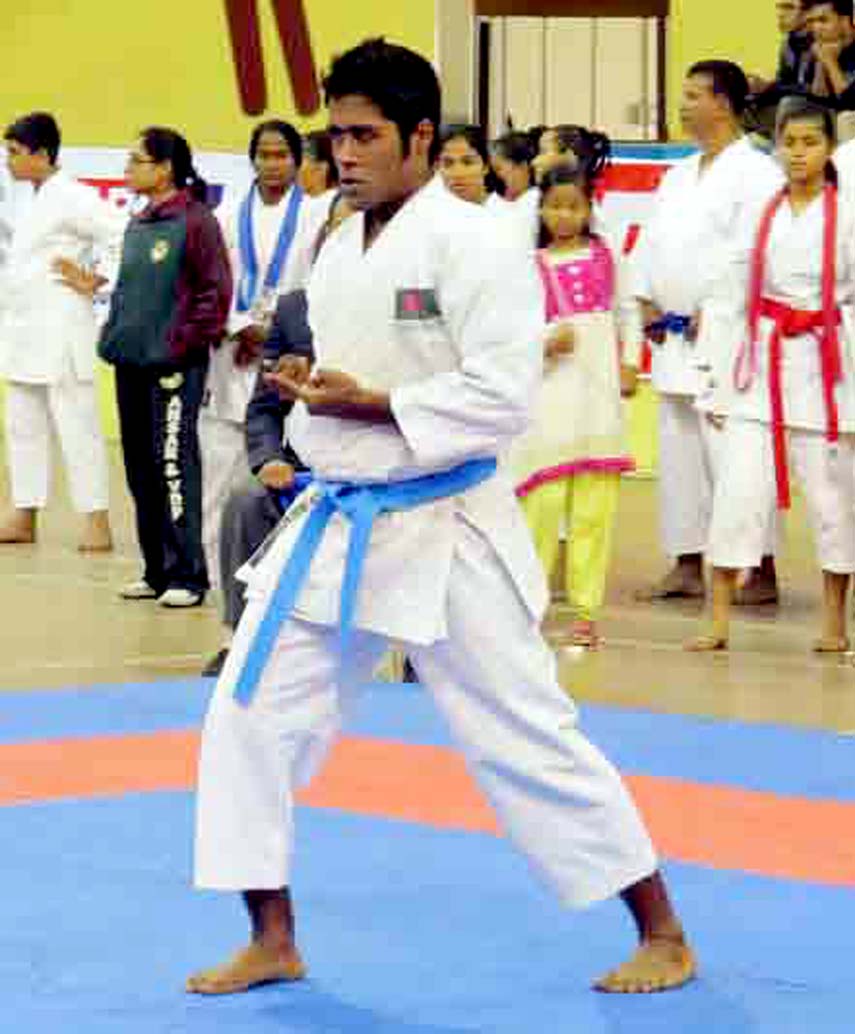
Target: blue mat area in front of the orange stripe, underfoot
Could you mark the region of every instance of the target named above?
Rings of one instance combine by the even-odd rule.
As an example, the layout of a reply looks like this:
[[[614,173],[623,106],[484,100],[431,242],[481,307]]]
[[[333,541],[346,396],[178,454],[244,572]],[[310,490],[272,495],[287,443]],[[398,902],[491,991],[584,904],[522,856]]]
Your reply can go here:
[[[187,884],[191,798],[0,810],[0,1030],[43,1034],[844,1034],[855,895],[670,866],[703,976],[611,998],[615,903],[561,911],[491,837],[303,810],[295,892],[310,979],[224,999],[188,972],[244,936]]]

